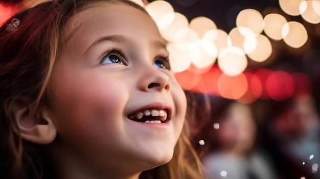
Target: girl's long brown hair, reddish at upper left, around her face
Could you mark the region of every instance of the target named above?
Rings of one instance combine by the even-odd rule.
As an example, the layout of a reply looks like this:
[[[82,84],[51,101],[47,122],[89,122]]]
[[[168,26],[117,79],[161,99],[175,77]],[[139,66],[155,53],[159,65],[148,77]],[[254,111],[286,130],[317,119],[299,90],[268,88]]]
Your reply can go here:
[[[21,21],[18,30],[0,28],[0,175],[4,178],[57,178],[45,150],[21,139],[12,114],[13,103],[31,106],[30,113],[44,103],[47,85],[68,19],[89,4],[122,2],[141,9],[128,0],[60,0],[39,4],[12,18]],[[10,20],[9,20],[10,21]],[[10,22],[7,23],[10,23]],[[172,160],[144,171],[140,178],[202,178],[200,161],[182,133]]]

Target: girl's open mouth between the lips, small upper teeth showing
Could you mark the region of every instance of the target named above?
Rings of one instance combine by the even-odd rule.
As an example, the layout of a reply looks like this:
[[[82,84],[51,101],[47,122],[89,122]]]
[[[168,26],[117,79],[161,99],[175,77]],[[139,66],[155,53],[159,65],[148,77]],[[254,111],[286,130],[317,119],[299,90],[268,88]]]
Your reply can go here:
[[[165,123],[168,119],[167,110],[146,109],[128,116],[129,119],[145,123]]]

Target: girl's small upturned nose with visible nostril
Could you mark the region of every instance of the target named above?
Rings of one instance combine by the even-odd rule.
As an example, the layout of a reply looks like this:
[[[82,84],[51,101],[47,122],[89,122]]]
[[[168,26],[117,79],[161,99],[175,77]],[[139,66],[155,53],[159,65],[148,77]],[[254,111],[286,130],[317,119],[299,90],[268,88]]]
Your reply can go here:
[[[140,73],[138,86],[141,91],[169,91],[169,76],[165,72],[154,67],[147,67]]]

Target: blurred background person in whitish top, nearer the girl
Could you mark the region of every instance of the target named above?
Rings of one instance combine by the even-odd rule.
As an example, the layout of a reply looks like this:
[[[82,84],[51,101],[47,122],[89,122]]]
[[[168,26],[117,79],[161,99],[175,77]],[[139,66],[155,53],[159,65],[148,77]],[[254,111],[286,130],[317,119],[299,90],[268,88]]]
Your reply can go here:
[[[257,122],[249,105],[229,101],[218,117],[215,147],[202,158],[215,179],[275,179],[270,161],[256,146]]]

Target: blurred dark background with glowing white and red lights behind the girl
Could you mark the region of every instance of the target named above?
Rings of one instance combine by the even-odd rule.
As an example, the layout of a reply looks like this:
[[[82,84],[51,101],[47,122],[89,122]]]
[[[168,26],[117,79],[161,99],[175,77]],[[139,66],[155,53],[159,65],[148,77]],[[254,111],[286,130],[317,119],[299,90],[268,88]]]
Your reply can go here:
[[[40,2],[0,0],[0,24]],[[320,178],[320,0],[149,2],[208,178]]]

